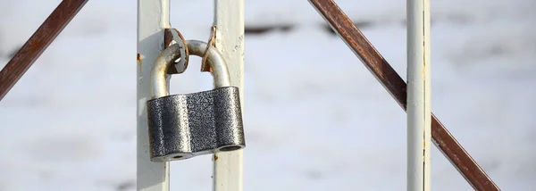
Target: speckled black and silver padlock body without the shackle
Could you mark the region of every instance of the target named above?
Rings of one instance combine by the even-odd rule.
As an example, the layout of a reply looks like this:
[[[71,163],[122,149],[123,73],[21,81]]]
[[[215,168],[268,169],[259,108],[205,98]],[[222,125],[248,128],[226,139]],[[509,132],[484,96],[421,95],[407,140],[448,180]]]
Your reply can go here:
[[[238,87],[155,98],[147,117],[155,162],[245,146]]]

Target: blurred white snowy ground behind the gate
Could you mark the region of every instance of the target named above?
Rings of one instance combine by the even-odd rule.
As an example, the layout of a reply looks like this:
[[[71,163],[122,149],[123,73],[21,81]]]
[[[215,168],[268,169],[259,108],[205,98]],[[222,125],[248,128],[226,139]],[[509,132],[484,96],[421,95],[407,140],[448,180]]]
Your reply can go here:
[[[0,66],[60,0],[0,0]],[[406,78],[406,1],[336,1]],[[536,2],[431,1],[432,111],[503,190],[536,183]],[[206,40],[212,1],[172,1]],[[305,0],[247,0],[245,190],[404,190],[406,115]],[[90,1],[0,102],[0,191],[134,190],[136,2]],[[200,59],[192,58],[197,68]],[[198,70],[172,92],[211,87]],[[433,190],[472,190],[432,151]],[[210,156],[172,162],[210,190]]]

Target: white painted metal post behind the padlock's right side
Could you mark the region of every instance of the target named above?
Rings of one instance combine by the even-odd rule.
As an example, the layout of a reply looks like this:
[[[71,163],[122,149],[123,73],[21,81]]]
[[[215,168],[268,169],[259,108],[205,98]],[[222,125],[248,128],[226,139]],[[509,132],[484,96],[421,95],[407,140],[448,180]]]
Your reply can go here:
[[[214,0],[214,25],[215,46],[228,64],[230,85],[240,88],[244,115],[244,0]],[[242,160],[242,150],[214,154],[214,191],[242,191]]]

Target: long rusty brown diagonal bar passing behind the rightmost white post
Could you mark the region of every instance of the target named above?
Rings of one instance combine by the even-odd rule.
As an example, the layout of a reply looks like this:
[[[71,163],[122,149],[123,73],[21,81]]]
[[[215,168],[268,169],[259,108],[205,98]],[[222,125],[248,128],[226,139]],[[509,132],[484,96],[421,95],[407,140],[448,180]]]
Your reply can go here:
[[[406,111],[406,82],[400,78],[397,71],[391,68],[389,62],[378,53],[333,0],[309,1]],[[500,190],[433,113],[431,114],[431,137],[434,144],[447,156],[448,160],[474,189]]]

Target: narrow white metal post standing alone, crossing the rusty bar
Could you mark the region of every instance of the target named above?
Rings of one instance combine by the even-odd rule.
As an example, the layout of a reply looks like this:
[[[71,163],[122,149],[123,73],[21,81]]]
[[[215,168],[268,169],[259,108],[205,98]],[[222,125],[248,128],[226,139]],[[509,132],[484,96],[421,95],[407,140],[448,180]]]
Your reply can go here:
[[[430,0],[407,0],[407,190],[429,191]]]

